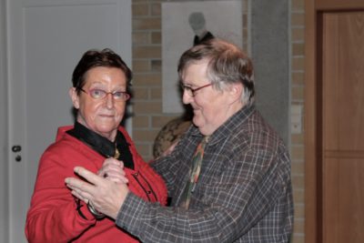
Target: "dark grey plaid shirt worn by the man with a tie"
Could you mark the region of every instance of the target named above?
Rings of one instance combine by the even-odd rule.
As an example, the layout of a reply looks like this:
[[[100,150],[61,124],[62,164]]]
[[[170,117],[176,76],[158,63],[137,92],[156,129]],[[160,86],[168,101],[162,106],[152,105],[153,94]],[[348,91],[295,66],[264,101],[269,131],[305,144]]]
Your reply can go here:
[[[211,135],[189,209],[178,208],[202,137],[190,127],[170,156],[151,164],[166,180],[171,207],[129,193],[116,224],[143,242],[288,242],[288,150],[255,106],[243,107]]]

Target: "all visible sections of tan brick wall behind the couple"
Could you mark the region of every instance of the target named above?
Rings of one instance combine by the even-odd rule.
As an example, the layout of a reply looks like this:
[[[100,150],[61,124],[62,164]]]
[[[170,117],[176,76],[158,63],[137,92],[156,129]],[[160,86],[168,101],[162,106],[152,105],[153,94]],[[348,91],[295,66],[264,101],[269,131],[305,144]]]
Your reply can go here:
[[[254,1],[254,0],[252,0]],[[291,6],[291,105],[304,105],[304,0]],[[132,0],[133,11],[133,138],[139,153],[153,157],[153,142],[160,128],[176,114],[162,112],[161,0]],[[242,0],[248,10],[248,0]],[[243,13],[243,48],[248,48],[248,18]],[[303,120],[302,120],[303,124]],[[292,180],[295,200],[293,243],[304,242],[304,128],[291,135]]]

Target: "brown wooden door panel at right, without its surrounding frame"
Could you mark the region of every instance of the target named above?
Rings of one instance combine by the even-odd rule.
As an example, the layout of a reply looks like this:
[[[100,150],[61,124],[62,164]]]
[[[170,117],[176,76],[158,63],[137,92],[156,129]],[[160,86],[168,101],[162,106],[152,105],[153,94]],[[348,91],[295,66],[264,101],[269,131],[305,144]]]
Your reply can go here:
[[[364,242],[364,11],[322,16],[322,239]]]

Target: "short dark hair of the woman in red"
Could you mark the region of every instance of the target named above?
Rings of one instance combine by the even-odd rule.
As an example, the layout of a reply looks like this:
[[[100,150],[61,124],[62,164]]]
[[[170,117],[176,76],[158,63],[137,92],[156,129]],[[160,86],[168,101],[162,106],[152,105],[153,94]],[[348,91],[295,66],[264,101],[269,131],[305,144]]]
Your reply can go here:
[[[121,69],[126,76],[126,86],[129,87],[133,77],[132,71],[123,59],[113,50],[106,48],[101,51],[91,49],[81,57],[72,74],[72,84],[76,87],[77,93],[85,86],[86,72],[96,66],[116,67]]]

